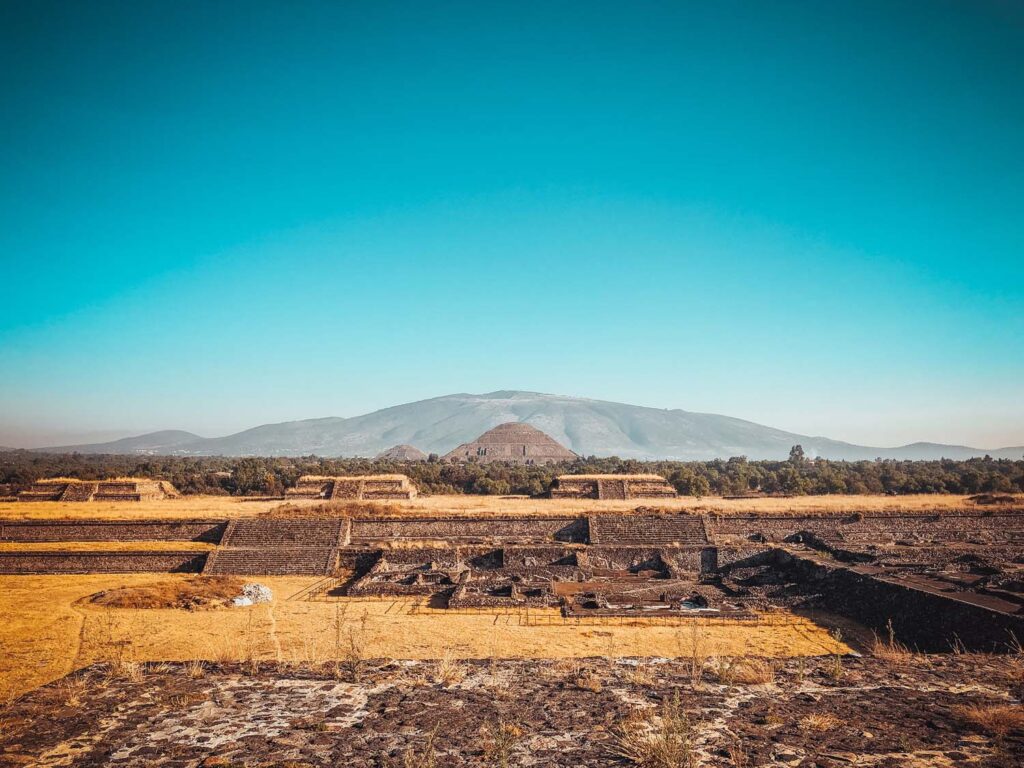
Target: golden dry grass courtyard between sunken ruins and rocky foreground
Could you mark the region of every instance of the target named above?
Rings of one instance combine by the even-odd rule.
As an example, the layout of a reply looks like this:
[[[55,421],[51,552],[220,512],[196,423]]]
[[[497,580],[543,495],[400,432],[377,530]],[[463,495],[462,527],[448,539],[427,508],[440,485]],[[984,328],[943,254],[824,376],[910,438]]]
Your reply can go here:
[[[93,662],[274,659],[324,663],[343,656],[338,636],[357,630],[365,657],[570,658],[681,656],[688,627],[718,654],[765,657],[847,652],[821,627],[801,616],[763,622],[607,620],[578,624],[555,609],[501,612],[429,608],[415,600],[303,600],[310,577],[261,578],[271,603],[189,611],[105,608],[97,592],[186,582],[185,574],[0,577],[0,692],[24,692]],[[336,632],[341,626],[342,632]]]

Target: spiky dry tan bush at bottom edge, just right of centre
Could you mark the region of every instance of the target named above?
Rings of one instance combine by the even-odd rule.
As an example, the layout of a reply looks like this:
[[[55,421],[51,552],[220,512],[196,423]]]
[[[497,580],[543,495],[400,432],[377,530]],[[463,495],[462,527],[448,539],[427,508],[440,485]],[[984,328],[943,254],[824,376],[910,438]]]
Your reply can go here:
[[[657,711],[634,713],[612,729],[611,751],[639,768],[697,768],[694,728],[679,692]]]

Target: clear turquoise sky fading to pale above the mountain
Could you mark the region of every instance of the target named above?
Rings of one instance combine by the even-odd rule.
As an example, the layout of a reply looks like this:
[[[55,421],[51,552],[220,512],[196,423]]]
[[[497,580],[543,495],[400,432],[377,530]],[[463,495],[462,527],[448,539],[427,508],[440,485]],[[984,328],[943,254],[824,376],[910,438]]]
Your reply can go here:
[[[0,444],[453,392],[1024,444],[1024,5],[0,2]]]

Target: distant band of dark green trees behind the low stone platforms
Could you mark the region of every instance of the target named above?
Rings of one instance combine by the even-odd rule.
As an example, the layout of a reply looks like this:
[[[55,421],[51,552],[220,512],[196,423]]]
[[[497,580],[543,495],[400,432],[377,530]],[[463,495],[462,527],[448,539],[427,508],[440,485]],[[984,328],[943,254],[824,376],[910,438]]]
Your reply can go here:
[[[134,476],[170,480],[183,494],[281,496],[300,475],[400,472],[424,494],[506,496],[546,493],[559,474],[653,472],[687,496],[745,494],[980,494],[1024,492],[1024,461],[991,458],[968,461],[811,460],[795,445],[786,461],[743,457],[710,462],[640,462],[582,459],[549,466],[396,463],[368,459],[224,457],[135,457],[83,454],[0,453],[0,484],[12,493],[45,477],[98,480]]]

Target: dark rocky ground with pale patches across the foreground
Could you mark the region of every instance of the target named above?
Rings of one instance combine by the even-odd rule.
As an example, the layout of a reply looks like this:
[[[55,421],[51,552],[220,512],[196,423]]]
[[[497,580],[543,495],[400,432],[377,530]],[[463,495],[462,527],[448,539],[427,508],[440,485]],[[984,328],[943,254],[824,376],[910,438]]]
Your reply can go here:
[[[0,710],[0,765],[1009,768],[1022,693],[968,654],[95,666]]]

